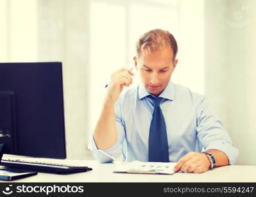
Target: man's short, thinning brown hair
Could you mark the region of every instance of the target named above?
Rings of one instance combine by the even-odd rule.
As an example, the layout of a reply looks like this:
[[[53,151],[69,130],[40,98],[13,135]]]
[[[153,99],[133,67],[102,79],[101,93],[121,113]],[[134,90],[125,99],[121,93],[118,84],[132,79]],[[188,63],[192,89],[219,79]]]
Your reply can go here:
[[[150,30],[139,37],[136,43],[137,56],[140,56],[143,50],[161,51],[166,45],[170,45],[172,48],[174,61],[177,55],[177,42],[174,35],[165,30]]]

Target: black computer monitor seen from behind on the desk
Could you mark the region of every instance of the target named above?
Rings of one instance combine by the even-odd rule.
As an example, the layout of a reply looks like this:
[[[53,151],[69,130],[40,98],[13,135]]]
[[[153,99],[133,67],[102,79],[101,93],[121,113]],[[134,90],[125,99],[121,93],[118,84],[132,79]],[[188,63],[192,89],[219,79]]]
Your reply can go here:
[[[61,62],[0,63],[1,145],[5,154],[66,158]]]

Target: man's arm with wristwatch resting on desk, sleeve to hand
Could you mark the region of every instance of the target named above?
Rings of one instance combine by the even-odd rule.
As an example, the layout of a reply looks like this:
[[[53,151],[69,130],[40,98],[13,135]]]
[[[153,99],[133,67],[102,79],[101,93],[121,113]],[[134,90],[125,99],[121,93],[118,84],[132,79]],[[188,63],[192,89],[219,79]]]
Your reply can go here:
[[[202,99],[197,108],[197,137],[206,152],[214,156],[216,166],[234,164],[238,150],[233,146],[222,122],[214,114],[207,99]],[[210,161],[206,154],[189,152],[177,162],[174,170],[203,173],[209,168]]]

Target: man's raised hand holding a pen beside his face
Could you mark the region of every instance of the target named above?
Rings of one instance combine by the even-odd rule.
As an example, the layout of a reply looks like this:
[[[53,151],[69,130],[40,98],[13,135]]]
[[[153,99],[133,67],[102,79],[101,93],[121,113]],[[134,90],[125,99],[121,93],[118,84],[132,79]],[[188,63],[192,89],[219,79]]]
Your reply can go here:
[[[115,102],[123,91],[123,86],[129,87],[133,83],[133,77],[131,77],[133,75],[133,72],[128,71],[127,68],[121,68],[114,72],[110,78],[106,99]]]

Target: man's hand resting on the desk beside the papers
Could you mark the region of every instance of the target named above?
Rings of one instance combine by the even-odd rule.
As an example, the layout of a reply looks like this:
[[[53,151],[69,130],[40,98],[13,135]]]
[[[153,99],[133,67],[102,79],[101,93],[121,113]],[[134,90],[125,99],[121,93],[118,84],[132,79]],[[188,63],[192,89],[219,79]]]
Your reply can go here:
[[[210,161],[201,152],[189,152],[174,166],[174,171],[187,171],[188,173],[203,173],[210,168]]]

